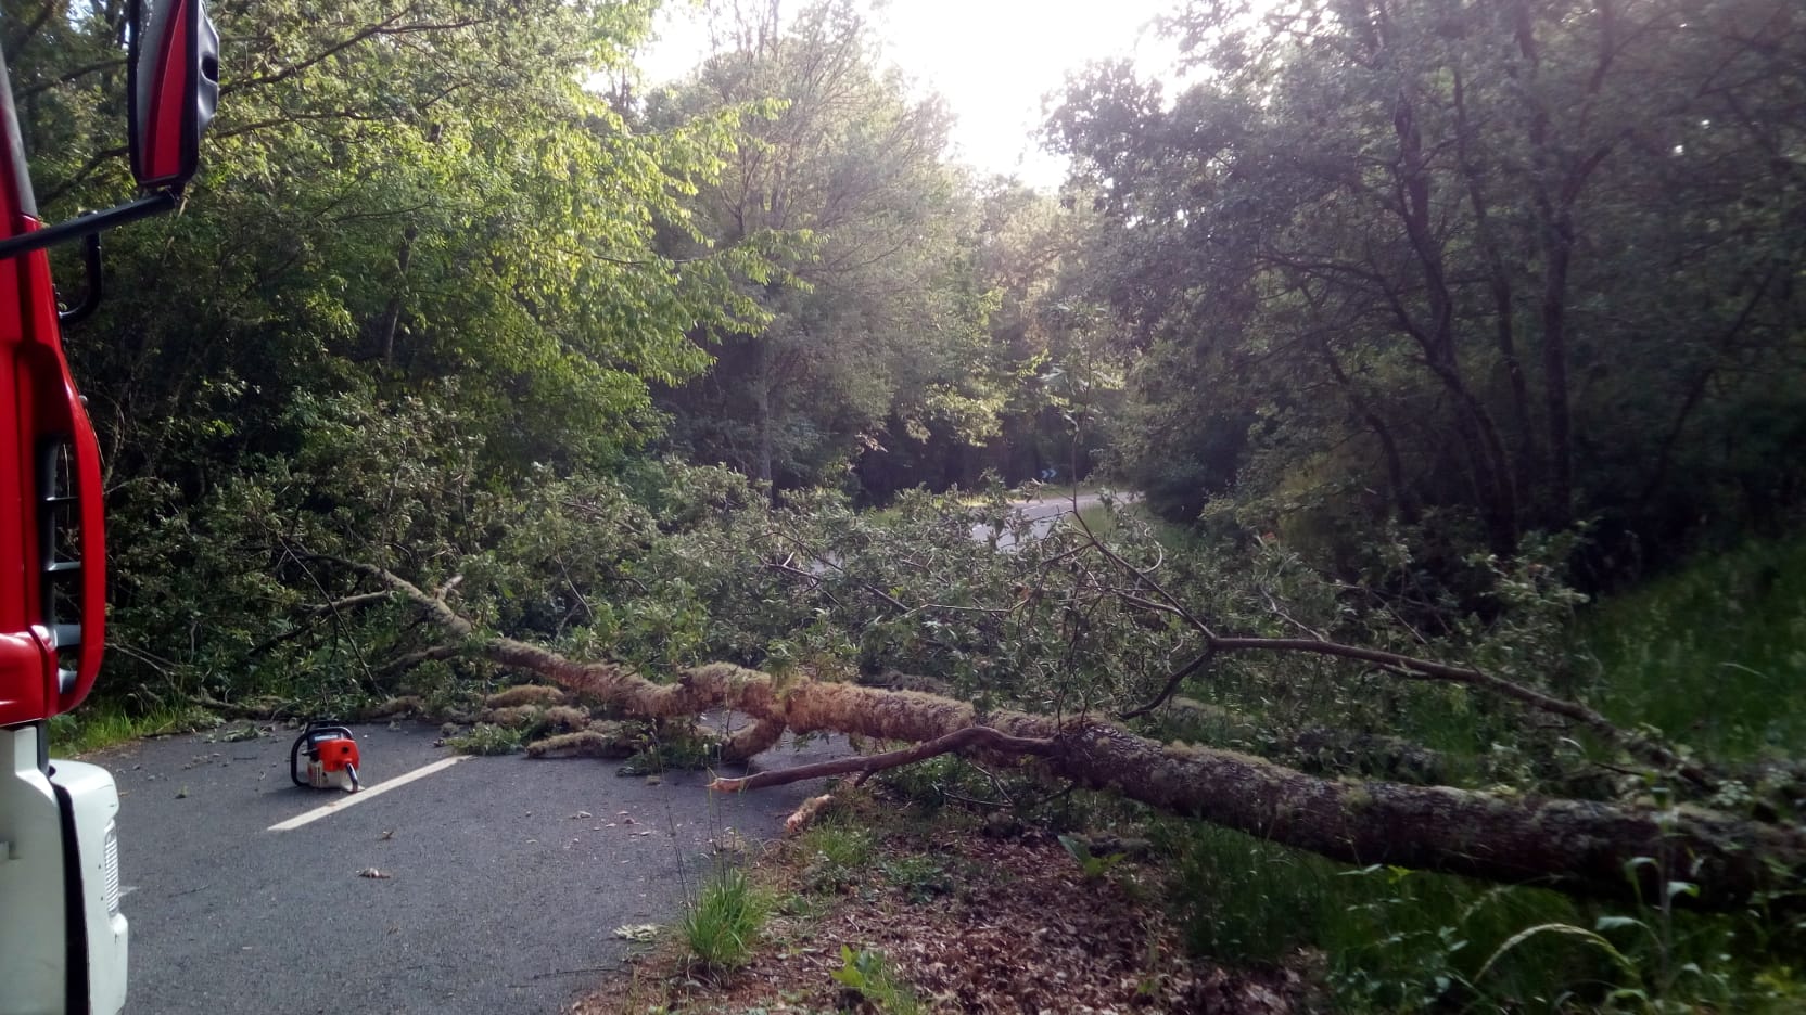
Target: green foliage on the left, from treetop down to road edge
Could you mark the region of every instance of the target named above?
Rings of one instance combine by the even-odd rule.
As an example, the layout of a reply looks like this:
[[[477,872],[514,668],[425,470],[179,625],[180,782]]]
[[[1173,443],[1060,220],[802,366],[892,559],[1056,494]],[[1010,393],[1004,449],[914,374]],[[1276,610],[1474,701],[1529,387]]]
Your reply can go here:
[[[47,219],[130,191],[125,7],[83,11],[7,18],[34,25],[5,61]],[[760,325],[739,284],[769,280],[760,251],[784,244],[712,247],[686,206],[739,110],[652,134],[582,87],[650,13],[213,11],[229,45],[202,175],[182,215],[108,238],[110,298],[69,343],[107,448],[114,694],[356,699],[361,618],[305,650],[267,641],[264,618],[332,587],[278,533],[332,529],[361,558],[442,547],[522,486],[639,448],[648,383],[708,363],[694,329]],[[668,237],[692,256],[663,255]]]

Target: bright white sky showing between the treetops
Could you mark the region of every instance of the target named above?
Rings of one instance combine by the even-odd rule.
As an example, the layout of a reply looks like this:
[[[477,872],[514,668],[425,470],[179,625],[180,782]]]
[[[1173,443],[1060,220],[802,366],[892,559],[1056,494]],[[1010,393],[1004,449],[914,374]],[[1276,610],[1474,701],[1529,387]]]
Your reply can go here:
[[[1015,173],[1053,190],[1066,161],[1035,144],[1042,98],[1087,61],[1131,56],[1149,70],[1172,67],[1174,49],[1149,22],[1178,0],[894,0],[872,16],[883,54],[959,116],[954,155],[982,173]],[[786,13],[802,0],[786,0]],[[708,52],[703,14],[670,0],[659,40],[641,56],[647,76],[683,76]]]

